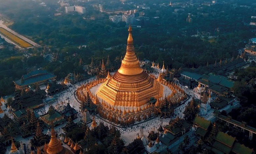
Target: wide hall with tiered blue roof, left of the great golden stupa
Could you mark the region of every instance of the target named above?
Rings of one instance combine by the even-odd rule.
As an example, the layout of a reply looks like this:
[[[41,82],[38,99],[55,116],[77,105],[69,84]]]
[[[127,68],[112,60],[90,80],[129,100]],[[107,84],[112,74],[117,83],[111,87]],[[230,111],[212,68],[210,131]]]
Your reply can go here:
[[[30,89],[32,86],[43,84],[49,80],[55,80],[57,76],[46,70],[35,70],[26,75],[23,75],[21,79],[13,81],[16,89]]]

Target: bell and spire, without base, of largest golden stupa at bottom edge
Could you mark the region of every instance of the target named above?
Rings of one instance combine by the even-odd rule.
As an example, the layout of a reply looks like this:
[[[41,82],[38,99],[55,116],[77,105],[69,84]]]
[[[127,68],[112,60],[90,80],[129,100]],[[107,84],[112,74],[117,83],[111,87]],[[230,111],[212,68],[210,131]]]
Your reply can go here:
[[[60,141],[56,137],[56,133],[55,133],[53,127],[54,127],[54,125],[52,123],[51,140],[50,140],[47,150],[46,150],[46,152],[48,154],[56,154],[56,153],[59,153],[63,149]]]

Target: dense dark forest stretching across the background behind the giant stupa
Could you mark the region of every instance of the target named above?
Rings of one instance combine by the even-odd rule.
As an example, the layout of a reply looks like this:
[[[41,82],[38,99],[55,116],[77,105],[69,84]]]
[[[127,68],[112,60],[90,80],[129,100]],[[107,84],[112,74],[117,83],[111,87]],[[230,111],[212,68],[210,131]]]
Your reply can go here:
[[[184,0],[185,1],[185,0]],[[11,29],[32,39],[42,46],[48,46],[51,52],[57,53],[62,63],[44,61],[40,55],[42,50],[29,49],[28,52],[37,56],[24,58],[20,51],[3,49],[0,52],[0,86],[1,95],[11,94],[13,91],[12,81],[33,69],[34,66],[43,67],[63,78],[68,72],[82,72],[77,64],[80,58],[84,64],[89,64],[91,57],[95,64],[106,59],[107,55],[114,60],[125,54],[124,46],[128,36],[125,23],[115,24],[108,19],[109,15],[99,12],[97,5],[103,8],[111,6],[123,7],[123,9],[136,9],[133,5],[120,5],[117,1],[96,2],[73,2],[75,5],[86,7],[86,13],[65,14],[64,8],[60,8],[57,1],[45,0],[47,7],[40,6],[38,1],[31,0],[0,0],[0,14],[14,24]],[[15,3],[13,3],[15,2]],[[255,9],[239,7],[246,5],[240,2],[238,6],[230,4],[216,4],[208,6],[189,6],[185,11],[174,12],[180,7],[160,7],[154,5],[152,0],[143,3],[151,9],[142,10],[150,22],[142,28],[133,28],[133,39],[136,54],[139,59],[149,59],[159,62],[165,61],[169,68],[198,67],[214,63],[215,60],[236,56],[238,49],[244,47],[249,38],[254,36],[252,27],[247,23],[255,14]],[[166,3],[160,0],[158,3]],[[71,4],[72,4],[71,3]],[[142,2],[141,2],[142,3]],[[173,2],[175,3],[175,2]],[[112,5],[109,5],[112,4]],[[139,4],[139,2],[138,2]],[[7,7],[12,5],[12,7]],[[200,9],[198,9],[200,8]],[[62,13],[54,16],[54,13]],[[192,23],[186,22],[190,13]],[[207,16],[203,14],[207,13]],[[159,17],[159,18],[153,18]],[[209,32],[211,39],[207,37],[192,37],[197,33]],[[79,45],[87,45],[86,48],[78,49]],[[110,51],[104,48],[114,47]],[[163,50],[162,50],[163,49]],[[8,53],[7,53],[8,52]],[[69,60],[69,61],[68,61]]]

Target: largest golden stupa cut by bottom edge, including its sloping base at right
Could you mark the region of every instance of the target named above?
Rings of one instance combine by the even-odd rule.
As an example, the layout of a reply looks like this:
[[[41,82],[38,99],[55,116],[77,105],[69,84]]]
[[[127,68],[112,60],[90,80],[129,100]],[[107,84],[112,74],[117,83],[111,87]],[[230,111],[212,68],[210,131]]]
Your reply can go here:
[[[44,154],[72,154],[72,153],[73,152],[71,152],[67,148],[62,147],[61,142],[56,137],[56,133],[54,131],[53,123],[52,123],[51,140]]]

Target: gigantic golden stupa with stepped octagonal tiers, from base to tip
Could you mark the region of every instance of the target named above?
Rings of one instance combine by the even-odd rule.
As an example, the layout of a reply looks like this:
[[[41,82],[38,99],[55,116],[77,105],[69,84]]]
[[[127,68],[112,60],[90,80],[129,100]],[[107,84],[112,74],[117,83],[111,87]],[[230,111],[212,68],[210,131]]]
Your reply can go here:
[[[151,97],[162,96],[163,86],[140,67],[135,55],[132,29],[128,29],[127,48],[118,71],[105,81],[97,95],[111,105],[142,106]]]

